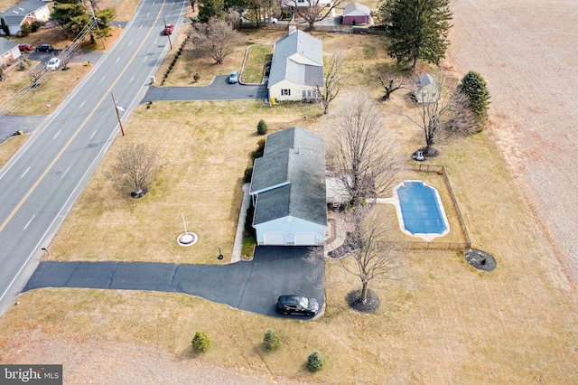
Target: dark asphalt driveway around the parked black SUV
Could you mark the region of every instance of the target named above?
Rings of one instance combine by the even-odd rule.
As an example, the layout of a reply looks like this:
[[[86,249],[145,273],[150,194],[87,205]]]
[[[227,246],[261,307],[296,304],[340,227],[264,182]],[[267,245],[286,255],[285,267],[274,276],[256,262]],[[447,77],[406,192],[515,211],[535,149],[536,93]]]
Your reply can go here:
[[[39,287],[154,290],[186,293],[262,315],[277,297],[312,296],[325,305],[323,249],[309,261],[308,248],[258,247],[252,261],[224,266],[141,262],[42,262],[23,291]]]

